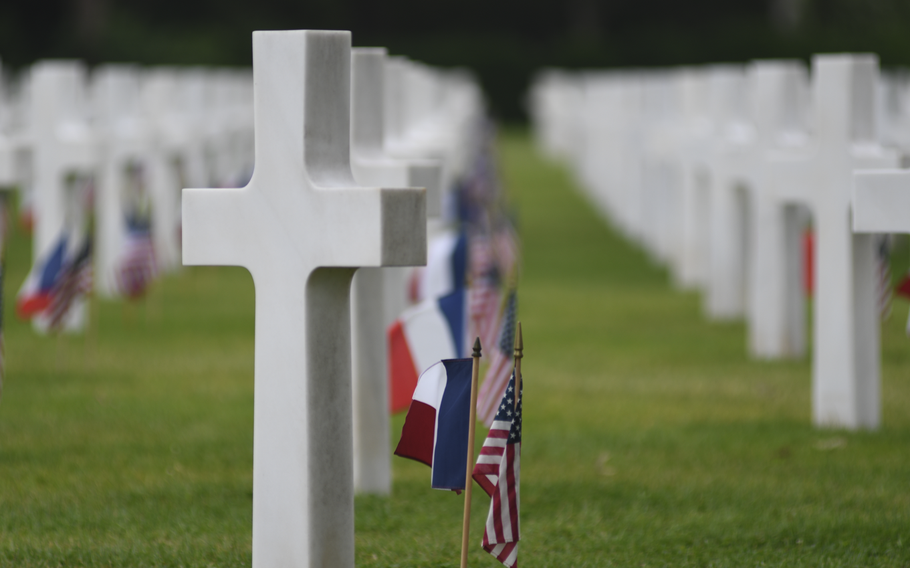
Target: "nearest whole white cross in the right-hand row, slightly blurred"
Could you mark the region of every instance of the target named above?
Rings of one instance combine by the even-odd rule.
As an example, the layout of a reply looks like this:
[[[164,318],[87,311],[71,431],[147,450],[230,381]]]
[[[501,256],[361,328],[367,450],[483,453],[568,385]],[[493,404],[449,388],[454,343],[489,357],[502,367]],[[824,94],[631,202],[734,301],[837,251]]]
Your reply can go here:
[[[767,159],[763,183],[782,206],[804,203],[813,214],[813,421],[876,428],[881,400],[875,250],[871,236],[852,233],[851,186],[853,170],[896,167],[898,156],[878,144],[874,55],[817,55],[812,72],[814,142]],[[771,247],[779,242],[774,235],[756,238]]]

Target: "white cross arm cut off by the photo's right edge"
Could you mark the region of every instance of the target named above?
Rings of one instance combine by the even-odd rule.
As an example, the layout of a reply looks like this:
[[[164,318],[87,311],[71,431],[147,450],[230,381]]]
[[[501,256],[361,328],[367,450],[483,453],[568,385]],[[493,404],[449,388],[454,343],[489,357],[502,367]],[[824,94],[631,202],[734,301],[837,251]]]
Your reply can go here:
[[[910,170],[853,175],[853,231],[910,233]]]

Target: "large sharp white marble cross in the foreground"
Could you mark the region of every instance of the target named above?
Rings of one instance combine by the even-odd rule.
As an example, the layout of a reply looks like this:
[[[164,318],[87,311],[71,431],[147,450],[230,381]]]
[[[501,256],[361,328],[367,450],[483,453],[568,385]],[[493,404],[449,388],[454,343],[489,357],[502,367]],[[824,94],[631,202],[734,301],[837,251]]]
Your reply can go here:
[[[422,189],[359,187],[351,35],[253,34],[255,170],[186,189],[183,260],[256,287],[253,566],[353,567],[350,283],[426,262]]]

